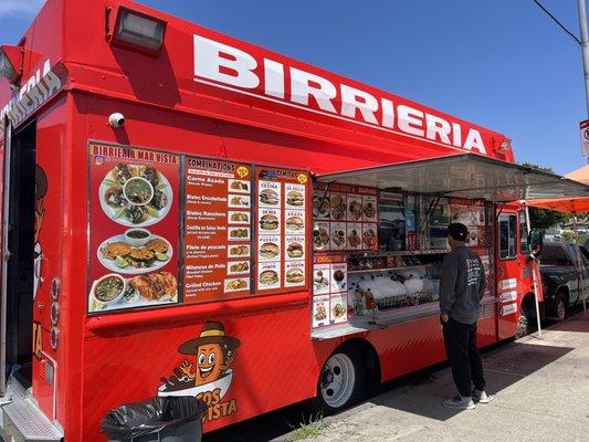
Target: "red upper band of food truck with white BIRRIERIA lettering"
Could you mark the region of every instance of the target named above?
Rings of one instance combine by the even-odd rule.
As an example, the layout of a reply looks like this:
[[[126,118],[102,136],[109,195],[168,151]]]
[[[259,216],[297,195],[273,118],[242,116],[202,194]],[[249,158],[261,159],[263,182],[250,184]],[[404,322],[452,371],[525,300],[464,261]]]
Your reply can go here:
[[[157,56],[113,44],[123,9],[166,23]],[[73,91],[406,160],[465,151],[514,160],[497,131],[127,0],[48,0],[21,44],[21,96],[49,60],[63,65]],[[0,108],[10,98],[1,86]]]

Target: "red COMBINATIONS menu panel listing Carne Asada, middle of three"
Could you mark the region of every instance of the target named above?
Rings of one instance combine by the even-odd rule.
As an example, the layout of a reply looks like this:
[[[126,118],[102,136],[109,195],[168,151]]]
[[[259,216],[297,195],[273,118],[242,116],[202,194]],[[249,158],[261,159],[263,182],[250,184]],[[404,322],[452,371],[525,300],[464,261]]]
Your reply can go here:
[[[187,157],[183,302],[251,293],[250,166]]]

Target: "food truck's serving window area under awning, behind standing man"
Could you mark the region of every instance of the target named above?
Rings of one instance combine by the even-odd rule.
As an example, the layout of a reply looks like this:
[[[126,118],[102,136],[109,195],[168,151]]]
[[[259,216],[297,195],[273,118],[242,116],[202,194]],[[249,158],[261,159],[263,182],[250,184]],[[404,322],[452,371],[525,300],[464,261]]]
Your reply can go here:
[[[376,225],[372,219],[366,227],[364,218],[351,219],[356,201],[377,202]],[[437,314],[441,263],[449,251],[446,231],[452,222],[467,225],[466,245],[481,255],[492,281],[493,244],[487,241],[492,204],[320,183],[314,189],[314,208],[312,327],[317,336],[329,335],[329,329],[366,328]],[[354,209],[362,212],[364,206]],[[378,233],[377,241],[366,242],[362,235],[357,245],[354,232],[367,229]]]

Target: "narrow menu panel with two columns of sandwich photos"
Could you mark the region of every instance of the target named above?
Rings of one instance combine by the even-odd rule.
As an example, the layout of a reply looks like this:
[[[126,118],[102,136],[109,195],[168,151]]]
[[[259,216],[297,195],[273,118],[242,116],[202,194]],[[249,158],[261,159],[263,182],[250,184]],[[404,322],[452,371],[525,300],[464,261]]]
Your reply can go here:
[[[256,168],[256,293],[285,293],[307,285],[308,191],[305,171]]]

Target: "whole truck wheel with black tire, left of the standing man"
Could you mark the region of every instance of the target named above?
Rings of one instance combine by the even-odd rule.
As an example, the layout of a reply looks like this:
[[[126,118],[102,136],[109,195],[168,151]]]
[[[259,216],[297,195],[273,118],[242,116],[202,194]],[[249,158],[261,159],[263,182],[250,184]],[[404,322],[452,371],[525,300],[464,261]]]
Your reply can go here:
[[[360,354],[348,347],[337,350],[323,366],[317,382],[318,404],[326,414],[358,402],[365,387],[365,368]]]

